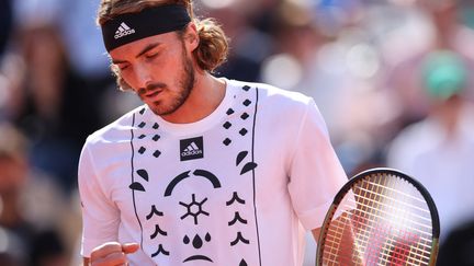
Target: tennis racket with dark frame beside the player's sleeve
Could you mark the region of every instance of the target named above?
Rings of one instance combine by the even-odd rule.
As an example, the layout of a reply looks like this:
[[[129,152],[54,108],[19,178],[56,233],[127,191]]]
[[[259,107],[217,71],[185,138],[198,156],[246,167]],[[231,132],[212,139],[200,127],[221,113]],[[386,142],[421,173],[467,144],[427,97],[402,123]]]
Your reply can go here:
[[[393,169],[357,174],[320,230],[316,265],[436,265],[440,224],[428,190]]]

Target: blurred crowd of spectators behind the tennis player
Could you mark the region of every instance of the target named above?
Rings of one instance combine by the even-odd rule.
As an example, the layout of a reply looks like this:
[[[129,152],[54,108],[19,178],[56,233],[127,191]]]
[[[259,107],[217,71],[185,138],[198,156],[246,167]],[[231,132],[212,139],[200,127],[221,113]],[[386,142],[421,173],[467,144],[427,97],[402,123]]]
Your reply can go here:
[[[81,146],[140,104],[110,73],[98,4],[0,0],[1,266],[79,264]],[[474,265],[474,1],[195,5],[230,38],[216,76],[313,96],[348,176],[390,166],[418,178],[440,212],[438,265]]]

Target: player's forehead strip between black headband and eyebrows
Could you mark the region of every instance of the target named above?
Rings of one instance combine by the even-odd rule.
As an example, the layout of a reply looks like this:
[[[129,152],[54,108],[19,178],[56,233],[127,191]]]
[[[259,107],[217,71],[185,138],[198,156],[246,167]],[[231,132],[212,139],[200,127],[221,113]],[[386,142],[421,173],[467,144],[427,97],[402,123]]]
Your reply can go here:
[[[178,37],[174,32],[158,34],[145,38],[134,41],[132,43],[122,45],[111,50],[109,55],[112,59],[126,59],[131,57],[137,57],[147,49],[150,45],[156,45],[157,47],[172,46],[177,45]]]

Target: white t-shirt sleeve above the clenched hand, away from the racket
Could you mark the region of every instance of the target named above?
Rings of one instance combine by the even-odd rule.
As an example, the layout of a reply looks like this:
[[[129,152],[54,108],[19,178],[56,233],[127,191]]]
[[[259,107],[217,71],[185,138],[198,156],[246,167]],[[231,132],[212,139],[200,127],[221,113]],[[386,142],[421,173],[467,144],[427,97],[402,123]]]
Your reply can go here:
[[[102,189],[93,162],[88,143],[86,143],[78,170],[82,207],[81,255],[84,257],[89,257],[95,246],[104,242],[116,241],[120,224],[120,211]]]

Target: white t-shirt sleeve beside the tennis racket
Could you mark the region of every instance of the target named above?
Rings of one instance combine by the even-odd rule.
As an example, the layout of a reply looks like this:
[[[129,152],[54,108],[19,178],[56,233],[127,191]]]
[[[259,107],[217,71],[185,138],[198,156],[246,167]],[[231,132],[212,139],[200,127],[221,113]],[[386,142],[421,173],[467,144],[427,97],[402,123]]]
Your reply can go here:
[[[313,100],[301,119],[295,141],[289,192],[300,221],[312,230],[321,227],[334,197],[348,180]]]

